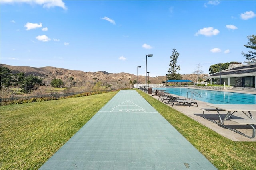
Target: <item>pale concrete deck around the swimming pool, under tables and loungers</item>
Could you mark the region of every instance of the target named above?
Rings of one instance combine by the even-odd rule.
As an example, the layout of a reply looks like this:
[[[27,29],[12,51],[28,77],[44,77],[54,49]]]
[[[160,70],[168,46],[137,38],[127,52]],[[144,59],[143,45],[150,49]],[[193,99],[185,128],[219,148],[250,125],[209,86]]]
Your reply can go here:
[[[195,89],[195,88],[193,88]],[[202,90],[202,89],[199,89]],[[247,93],[247,94],[255,94],[256,90],[226,90],[226,92],[240,92],[240,93]],[[152,96],[151,94],[149,94],[150,96]],[[177,95],[175,95],[177,96]],[[156,99],[158,99],[158,96],[152,96]],[[184,98],[183,96],[180,96],[182,98]],[[181,113],[183,113],[184,115],[187,115],[188,117],[190,117],[191,119],[194,119],[195,121],[201,123],[202,125],[212,129],[213,131],[219,133],[220,135],[231,139],[232,141],[250,141],[250,142],[256,142],[256,137],[250,139],[248,137],[242,136],[234,131],[231,131],[229,129],[224,128],[221,125],[217,125],[215,123],[212,123],[211,121],[208,121],[207,119],[203,118],[203,111],[200,110],[200,108],[209,108],[209,106],[206,106],[206,102],[202,102],[199,100],[196,100],[196,102],[198,103],[198,107],[196,106],[191,106],[191,107],[185,107],[185,106],[181,106],[181,105],[177,105],[174,104],[174,106],[172,107],[170,104],[168,106],[176,109],[177,111],[180,111]],[[254,119],[256,119],[256,108],[255,111],[252,111],[252,116],[254,117]],[[212,118],[216,117],[216,112],[214,111],[210,111],[210,112],[205,112],[205,114],[207,116],[210,116]],[[225,115],[226,111],[222,111],[220,112],[220,114]],[[239,116],[241,118],[244,119],[248,119],[248,117],[246,117],[246,115],[244,115],[243,113],[236,113],[234,114],[234,116]],[[225,122],[225,124],[229,124],[230,120],[227,120]],[[230,124],[234,124],[234,123],[230,123]],[[252,134],[252,128],[250,128],[249,126],[244,126],[243,129],[239,129],[239,131],[241,131],[242,133],[246,133],[246,134]]]

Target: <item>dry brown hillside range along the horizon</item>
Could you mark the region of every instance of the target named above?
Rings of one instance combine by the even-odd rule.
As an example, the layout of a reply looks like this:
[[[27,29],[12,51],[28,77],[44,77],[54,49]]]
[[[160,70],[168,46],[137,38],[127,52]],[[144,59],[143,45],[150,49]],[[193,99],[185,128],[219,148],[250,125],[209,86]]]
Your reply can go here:
[[[108,73],[106,71],[98,72],[83,72],[77,70],[68,70],[64,68],[56,67],[29,67],[29,66],[10,66],[1,64],[1,67],[7,67],[12,70],[13,73],[23,72],[26,75],[34,75],[44,79],[45,84],[49,84],[54,78],[62,79],[63,82],[67,82],[70,77],[73,77],[77,84],[84,84],[85,82],[98,82],[110,84],[111,82],[129,82],[137,79],[137,75],[129,73]],[[201,77],[208,74],[202,74]],[[182,79],[195,81],[196,74],[182,75]],[[139,84],[145,84],[145,76],[139,76]],[[161,84],[166,80],[166,76],[150,77],[151,84]]]

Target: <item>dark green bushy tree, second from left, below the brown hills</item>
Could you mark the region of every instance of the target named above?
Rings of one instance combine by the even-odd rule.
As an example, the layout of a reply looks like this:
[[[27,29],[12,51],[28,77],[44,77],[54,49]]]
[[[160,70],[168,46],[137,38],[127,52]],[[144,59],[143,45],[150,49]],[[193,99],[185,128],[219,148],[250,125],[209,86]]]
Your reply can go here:
[[[24,78],[24,80],[21,83],[21,92],[24,92],[26,94],[31,94],[31,90],[34,88],[38,88],[38,86],[42,85],[43,79],[38,78],[37,76],[29,75]]]

